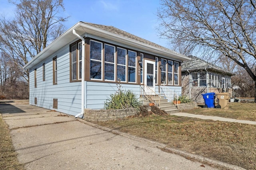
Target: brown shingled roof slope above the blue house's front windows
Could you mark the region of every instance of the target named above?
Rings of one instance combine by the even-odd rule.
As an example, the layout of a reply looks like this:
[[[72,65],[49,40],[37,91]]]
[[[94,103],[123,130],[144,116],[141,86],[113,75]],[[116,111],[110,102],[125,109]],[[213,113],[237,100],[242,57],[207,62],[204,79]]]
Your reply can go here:
[[[88,25],[91,25],[93,27],[96,27],[96,28],[100,28],[100,29],[103,29],[105,31],[108,31],[108,32],[111,32],[111,33],[114,33],[114,34],[117,34],[117,35],[121,35],[123,37],[126,37],[126,38],[130,38],[130,39],[133,39],[135,41],[139,41],[141,43],[145,43],[145,44],[148,44],[148,45],[152,45],[153,47],[157,47],[157,48],[160,48],[160,49],[163,49],[163,50],[166,50],[166,51],[170,51],[170,52],[175,52],[175,51],[172,51],[168,48],[165,48],[161,45],[158,45],[158,44],[155,44],[155,43],[152,43],[151,41],[148,41],[146,39],[143,39],[143,38],[140,38],[140,37],[137,37],[136,35],[133,35],[131,33],[128,33],[126,31],[123,31],[121,29],[118,29],[116,27],[113,27],[113,26],[106,26],[106,25],[100,25],[100,24],[95,24],[95,23],[89,23],[89,22],[83,22],[85,24],[88,24]],[[175,52],[176,53],[176,52]],[[178,54],[178,53],[177,53]]]

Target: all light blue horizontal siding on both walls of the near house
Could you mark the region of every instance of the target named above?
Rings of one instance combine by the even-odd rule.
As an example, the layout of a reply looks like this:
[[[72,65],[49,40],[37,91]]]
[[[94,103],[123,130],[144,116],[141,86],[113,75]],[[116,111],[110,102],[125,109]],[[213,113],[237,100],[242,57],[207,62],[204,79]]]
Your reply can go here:
[[[92,36],[92,35],[91,35]],[[120,45],[132,50],[138,48],[123,45],[107,39],[92,36],[95,39],[104,40],[106,42]],[[77,39],[78,40],[78,39]],[[34,105],[34,98],[37,98],[37,105],[46,109],[53,109],[53,99],[58,99],[58,109],[56,111],[76,115],[81,112],[81,82],[70,82],[70,44],[50,55],[46,60],[30,69],[30,104]],[[147,52],[147,51],[142,51]],[[158,55],[161,57],[161,55]],[[57,57],[57,84],[53,85],[53,58]],[[43,81],[42,64],[45,63],[45,81]],[[34,69],[37,69],[37,88],[34,87]],[[86,68],[89,71],[90,68]],[[118,90],[116,82],[92,82],[85,81],[85,108],[103,109],[104,102],[110,98],[110,94],[115,94]],[[168,86],[177,94],[181,94],[181,86]],[[140,96],[140,85],[138,84],[122,84],[122,90],[131,90],[138,97]],[[158,86],[156,86],[158,94]]]

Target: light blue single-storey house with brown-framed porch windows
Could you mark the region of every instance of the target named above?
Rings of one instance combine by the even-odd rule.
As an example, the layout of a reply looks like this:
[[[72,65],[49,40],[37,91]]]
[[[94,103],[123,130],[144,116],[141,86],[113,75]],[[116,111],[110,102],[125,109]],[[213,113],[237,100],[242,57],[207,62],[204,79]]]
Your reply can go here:
[[[181,62],[188,57],[112,26],[78,22],[24,66],[30,104],[70,115],[102,109],[117,91],[181,94]]]

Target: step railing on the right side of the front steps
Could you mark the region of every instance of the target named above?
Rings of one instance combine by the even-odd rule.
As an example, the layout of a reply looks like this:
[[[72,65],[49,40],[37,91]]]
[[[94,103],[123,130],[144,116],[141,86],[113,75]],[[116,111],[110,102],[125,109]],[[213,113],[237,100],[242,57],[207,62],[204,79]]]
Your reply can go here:
[[[164,96],[168,102],[173,102],[174,105],[178,107],[178,94],[163,84],[160,85],[160,96]]]

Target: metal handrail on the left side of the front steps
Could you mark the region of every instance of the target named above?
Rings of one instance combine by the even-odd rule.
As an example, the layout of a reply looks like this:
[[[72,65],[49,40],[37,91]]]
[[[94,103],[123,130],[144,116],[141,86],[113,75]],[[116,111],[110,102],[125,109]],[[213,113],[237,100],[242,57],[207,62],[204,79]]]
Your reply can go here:
[[[146,88],[146,90],[145,90]],[[150,91],[150,95],[148,95],[146,92]],[[160,99],[161,96],[156,94],[156,92],[154,90],[152,90],[151,88],[149,88],[146,84],[140,84],[140,96],[144,96],[150,103],[154,103],[157,107],[160,108]],[[158,98],[158,103],[156,103],[156,100],[153,99],[154,98]]]

